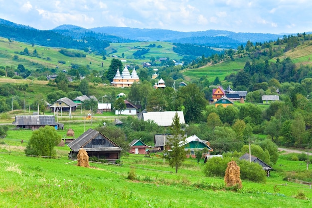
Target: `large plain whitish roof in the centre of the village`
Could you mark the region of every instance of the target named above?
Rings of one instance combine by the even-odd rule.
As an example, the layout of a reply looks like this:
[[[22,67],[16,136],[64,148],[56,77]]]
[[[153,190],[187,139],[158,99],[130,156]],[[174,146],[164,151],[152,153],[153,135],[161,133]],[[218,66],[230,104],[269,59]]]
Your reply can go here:
[[[138,115],[138,118],[143,119],[144,121],[154,120],[158,126],[171,126],[173,117],[176,112],[180,118],[180,123],[185,123],[183,111],[143,111]]]

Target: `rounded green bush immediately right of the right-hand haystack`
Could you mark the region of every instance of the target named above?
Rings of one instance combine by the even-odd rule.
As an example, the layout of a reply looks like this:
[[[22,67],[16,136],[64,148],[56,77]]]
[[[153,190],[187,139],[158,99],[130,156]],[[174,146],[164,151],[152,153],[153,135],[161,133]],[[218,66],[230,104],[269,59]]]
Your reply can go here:
[[[241,168],[241,179],[257,183],[265,183],[267,174],[258,163],[250,163],[247,160],[238,160],[238,166]]]

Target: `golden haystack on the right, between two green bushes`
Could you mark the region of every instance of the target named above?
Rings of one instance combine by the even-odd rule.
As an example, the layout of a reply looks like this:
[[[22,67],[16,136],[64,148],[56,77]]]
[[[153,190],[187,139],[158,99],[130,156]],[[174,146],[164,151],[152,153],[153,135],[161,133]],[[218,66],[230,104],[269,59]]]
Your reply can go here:
[[[224,182],[227,187],[237,186],[237,188],[242,188],[242,181],[240,179],[240,167],[235,161],[228,162],[225,171]]]

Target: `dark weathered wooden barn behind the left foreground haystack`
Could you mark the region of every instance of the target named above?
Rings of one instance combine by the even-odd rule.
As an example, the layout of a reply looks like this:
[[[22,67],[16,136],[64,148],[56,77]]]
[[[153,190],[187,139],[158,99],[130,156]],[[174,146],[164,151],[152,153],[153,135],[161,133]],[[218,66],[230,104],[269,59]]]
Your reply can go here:
[[[123,150],[115,142],[92,128],[89,128],[77,139],[70,142],[68,147],[72,150],[69,153],[70,158],[76,159],[79,150],[83,148],[87,151],[89,157],[95,156],[111,163],[120,160],[120,153]]]

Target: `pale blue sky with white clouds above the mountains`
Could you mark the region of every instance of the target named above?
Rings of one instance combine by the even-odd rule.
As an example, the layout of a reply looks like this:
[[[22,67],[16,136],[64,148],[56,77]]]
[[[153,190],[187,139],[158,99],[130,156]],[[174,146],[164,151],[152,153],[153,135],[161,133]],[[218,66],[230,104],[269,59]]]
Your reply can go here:
[[[176,31],[312,31],[312,0],[0,0],[0,18],[40,30],[72,24]]]

